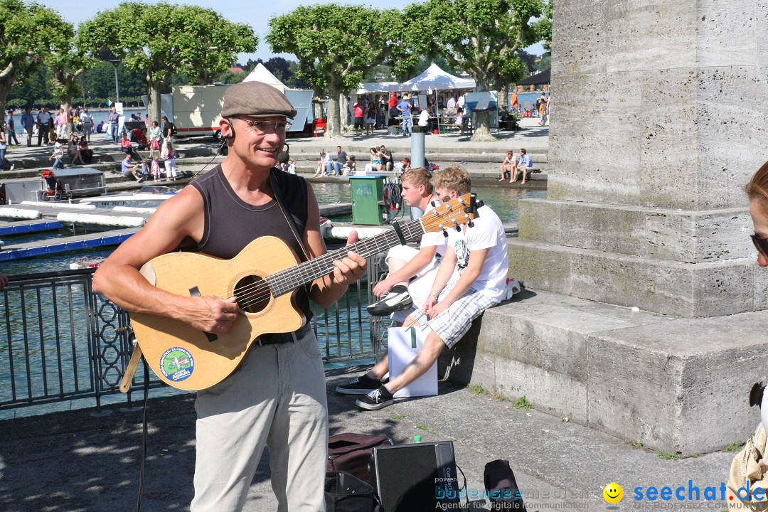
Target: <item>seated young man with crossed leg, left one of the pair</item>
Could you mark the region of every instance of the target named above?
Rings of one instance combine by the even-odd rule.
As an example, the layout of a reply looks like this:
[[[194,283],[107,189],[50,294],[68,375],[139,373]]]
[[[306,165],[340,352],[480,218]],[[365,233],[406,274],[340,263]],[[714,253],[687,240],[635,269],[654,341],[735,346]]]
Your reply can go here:
[[[403,203],[422,211],[439,206],[437,196],[432,193],[431,179],[432,173],[424,167],[407,170],[402,175]],[[382,299],[368,306],[369,314],[392,314],[392,325],[402,325],[412,312],[422,309],[445,256],[447,243],[448,239],[442,231],[438,231],[424,233],[419,249],[411,246],[389,249],[386,255],[389,276],[373,287],[373,294]],[[389,360],[385,355],[366,375],[339,385],[336,391],[345,395],[367,395],[381,385],[380,379],[386,374],[387,368]]]

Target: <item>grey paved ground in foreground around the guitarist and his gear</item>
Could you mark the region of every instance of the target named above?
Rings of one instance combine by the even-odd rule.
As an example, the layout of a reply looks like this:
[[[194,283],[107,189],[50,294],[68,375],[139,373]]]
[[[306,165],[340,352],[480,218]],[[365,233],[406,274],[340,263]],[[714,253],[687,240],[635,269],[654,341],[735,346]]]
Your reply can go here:
[[[422,436],[422,441],[451,440],[471,489],[482,488],[486,462],[508,459],[529,512],[606,510],[601,491],[611,481],[624,487],[621,509],[640,503],[649,508],[671,507],[673,502],[635,501],[634,488],[687,488],[690,480],[703,495],[705,487],[719,488],[733,457],[720,452],[668,460],[608,434],[515,408],[511,401],[450,382],[440,384],[436,397],[399,401],[381,411],[359,411],[354,398],[338,395],[333,388],[360,370],[327,374],[331,434],[384,434],[396,444],[412,442],[414,435]],[[134,398],[140,396],[136,393]],[[193,406],[193,395],[150,401],[147,512],[188,510],[193,495]],[[141,411],[109,409],[112,414],[106,416],[81,410],[0,421],[0,510],[135,510]],[[267,457],[253,479],[247,512],[276,510]],[[702,507],[708,505],[713,510],[726,508],[723,502],[700,502]]]

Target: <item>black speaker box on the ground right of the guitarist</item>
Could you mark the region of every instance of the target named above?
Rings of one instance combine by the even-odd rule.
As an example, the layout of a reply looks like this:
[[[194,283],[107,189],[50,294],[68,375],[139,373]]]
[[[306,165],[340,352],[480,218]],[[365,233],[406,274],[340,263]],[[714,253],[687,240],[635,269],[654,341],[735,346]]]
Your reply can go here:
[[[448,510],[458,507],[451,441],[373,448],[373,469],[384,512],[425,512],[437,504],[451,504]]]

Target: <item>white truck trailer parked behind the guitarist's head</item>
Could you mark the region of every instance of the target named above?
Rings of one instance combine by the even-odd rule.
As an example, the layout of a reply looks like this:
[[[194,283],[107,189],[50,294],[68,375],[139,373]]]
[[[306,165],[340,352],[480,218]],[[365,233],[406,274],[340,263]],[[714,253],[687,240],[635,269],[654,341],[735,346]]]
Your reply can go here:
[[[270,84],[273,85],[273,84]],[[161,94],[161,115],[167,116],[176,125],[177,137],[213,135],[221,141],[219,121],[224,104],[224,92],[229,84],[183,85],[174,87],[170,94]],[[274,85],[283,91],[296,109],[296,118],[290,132],[312,132],[312,91],[288,89]],[[148,102],[145,100],[144,104]],[[161,122],[162,125],[162,122]]]

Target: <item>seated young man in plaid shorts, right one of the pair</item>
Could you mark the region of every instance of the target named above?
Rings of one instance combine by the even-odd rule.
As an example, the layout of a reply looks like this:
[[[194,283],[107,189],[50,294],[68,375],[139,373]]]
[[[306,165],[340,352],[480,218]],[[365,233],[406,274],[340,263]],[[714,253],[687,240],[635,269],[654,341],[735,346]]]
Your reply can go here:
[[[443,202],[472,190],[469,174],[461,167],[449,167],[435,174],[435,193]],[[376,363],[356,381],[371,390],[355,403],[376,411],[392,405],[392,395],[419,378],[434,363],[445,347],[452,348],[472,326],[472,320],[485,309],[502,302],[505,294],[508,259],[504,226],[488,206],[478,209],[472,227],[448,230],[448,248],[422,311],[429,319],[431,332],[421,352],[403,372],[386,385],[381,378],[389,369],[388,358]],[[406,319],[406,324],[412,319]],[[361,393],[362,394],[362,393]]]

